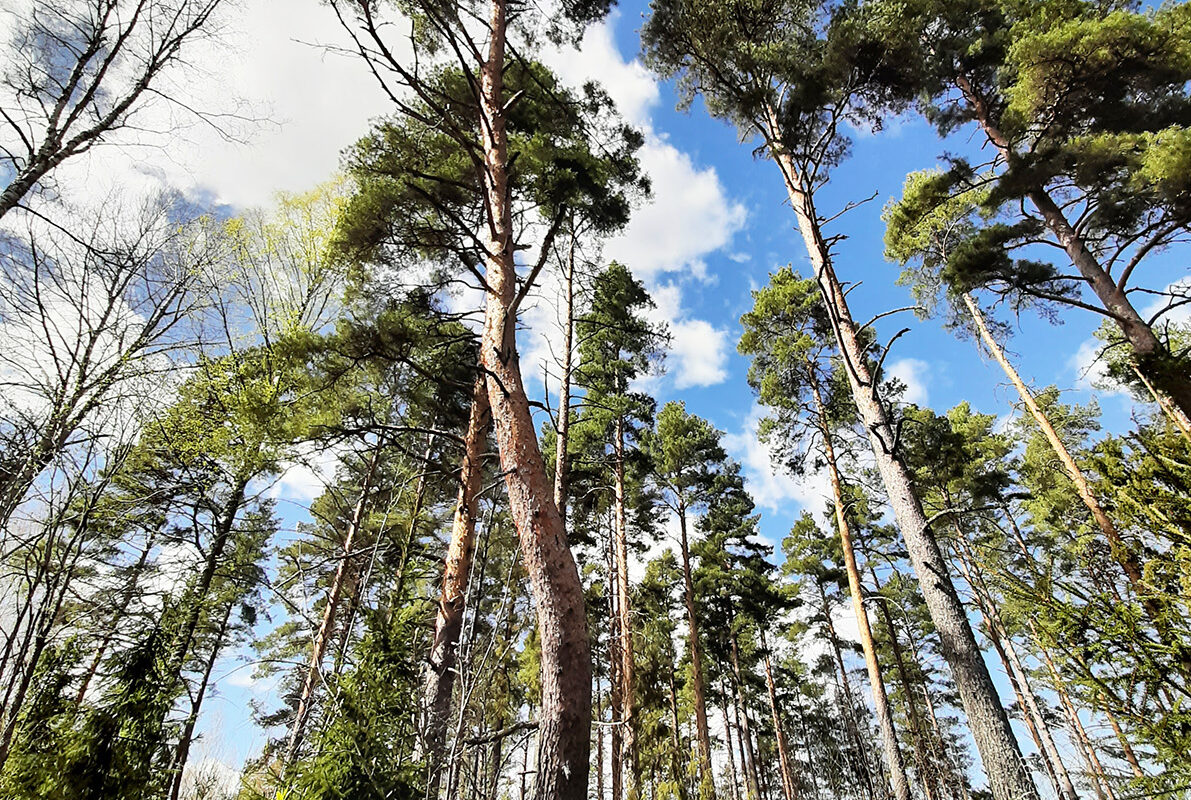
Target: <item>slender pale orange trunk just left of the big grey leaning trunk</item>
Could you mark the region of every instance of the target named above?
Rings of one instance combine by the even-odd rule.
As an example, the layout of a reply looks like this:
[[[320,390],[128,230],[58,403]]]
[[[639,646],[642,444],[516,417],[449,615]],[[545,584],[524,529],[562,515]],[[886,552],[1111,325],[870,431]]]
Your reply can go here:
[[[893,727],[893,712],[890,710],[885,683],[881,680],[880,662],[877,661],[877,646],[873,643],[873,631],[868,625],[868,613],[860,582],[860,569],[856,567],[856,551],[852,544],[852,526],[844,514],[843,487],[840,480],[840,464],[835,457],[835,445],[831,430],[827,424],[827,410],[816,382],[811,382],[811,394],[818,413],[819,429],[823,435],[823,452],[827,456],[828,474],[831,477],[831,498],[835,505],[835,523],[840,529],[840,544],[843,549],[843,563],[848,573],[848,590],[852,594],[852,611],[856,617],[856,629],[860,633],[860,646],[865,654],[865,667],[868,669],[868,683],[873,689],[873,706],[877,710],[877,723],[881,731],[881,744],[885,750],[885,765],[890,770],[890,782],[896,800],[910,800],[910,781],[905,775],[902,750],[897,745],[897,731]]]

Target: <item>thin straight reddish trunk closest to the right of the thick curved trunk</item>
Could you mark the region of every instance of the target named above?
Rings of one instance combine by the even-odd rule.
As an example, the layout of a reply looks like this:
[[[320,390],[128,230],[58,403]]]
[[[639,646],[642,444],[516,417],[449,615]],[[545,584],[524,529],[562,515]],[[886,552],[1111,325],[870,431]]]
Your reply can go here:
[[[624,419],[616,420],[613,440],[613,476],[616,480],[616,504],[613,542],[616,544],[616,605],[619,617],[621,635],[621,725],[623,731],[622,771],[624,774],[624,796],[637,800],[637,719],[634,714],[634,661],[632,661],[632,607],[629,601],[629,531],[625,518],[624,496]]]

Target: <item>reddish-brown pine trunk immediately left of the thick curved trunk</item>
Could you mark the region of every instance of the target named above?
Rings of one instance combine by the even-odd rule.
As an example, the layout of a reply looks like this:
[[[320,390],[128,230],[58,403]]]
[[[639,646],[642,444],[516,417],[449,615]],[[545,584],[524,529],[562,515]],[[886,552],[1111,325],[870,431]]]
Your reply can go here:
[[[459,635],[463,626],[467,585],[472,577],[475,550],[475,518],[484,477],[484,445],[488,430],[488,390],[482,377],[475,380],[472,408],[463,440],[459,495],[451,521],[450,544],[443,563],[435,636],[426,669],[426,798],[436,800],[442,783],[443,755],[447,746],[447,723],[455,688],[455,663]]]

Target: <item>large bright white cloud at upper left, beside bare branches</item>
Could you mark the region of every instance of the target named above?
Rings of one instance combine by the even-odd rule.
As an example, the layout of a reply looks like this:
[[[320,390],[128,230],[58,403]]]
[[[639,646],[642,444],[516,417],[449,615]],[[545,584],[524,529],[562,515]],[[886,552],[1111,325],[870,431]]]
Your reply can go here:
[[[219,36],[193,42],[185,69],[158,85],[231,138],[179,106],[146,104],[138,129],[158,133],[121,133],[118,146],[67,162],[62,185],[73,193],[166,185],[248,207],[326,180],[391,104],[358,60],[323,49],[350,46],[325,4],[283,5],[237,4]]]

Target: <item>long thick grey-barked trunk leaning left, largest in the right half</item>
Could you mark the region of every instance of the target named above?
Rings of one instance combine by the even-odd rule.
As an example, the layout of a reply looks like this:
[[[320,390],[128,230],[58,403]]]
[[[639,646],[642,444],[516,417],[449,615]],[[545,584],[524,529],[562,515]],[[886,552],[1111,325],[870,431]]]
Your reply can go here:
[[[798,226],[840,345],[853,400],[868,433],[877,470],[905,540],[922,596],[939,631],[943,658],[952,668],[972,729],[972,738],[989,775],[993,798],[1039,800],[1037,787],[1025,769],[1009,725],[1009,717],[1000,705],[997,687],[992,682],[989,667],[984,663],[964,604],[948,575],[947,560],[943,558],[939,542],[930,531],[922,504],[915,493],[910,471],[897,451],[893,424],[887,408],[878,398],[877,381],[869,371],[858,326],[852,319],[843,287],[831,267],[813,199],[810,192],[804,189],[803,176],[793,157],[780,144],[778,135],[780,126],[775,110],[768,111],[771,126],[768,139],[773,157],[781,168],[790,202],[798,218]]]

